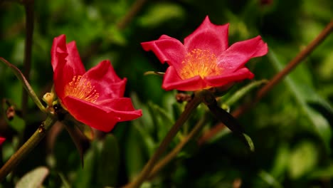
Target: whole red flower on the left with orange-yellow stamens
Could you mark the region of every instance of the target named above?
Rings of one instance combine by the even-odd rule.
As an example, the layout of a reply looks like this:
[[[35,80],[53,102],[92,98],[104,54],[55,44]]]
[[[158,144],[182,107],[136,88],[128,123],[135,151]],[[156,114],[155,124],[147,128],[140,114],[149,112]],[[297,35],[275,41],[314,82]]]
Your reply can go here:
[[[76,120],[109,132],[117,122],[142,115],[129,98],[122,98],[127,79],[116,75],[110,61],[85,72],[75,42],[66,44],[65,35],[54,38],[51,56],[56,94]]]

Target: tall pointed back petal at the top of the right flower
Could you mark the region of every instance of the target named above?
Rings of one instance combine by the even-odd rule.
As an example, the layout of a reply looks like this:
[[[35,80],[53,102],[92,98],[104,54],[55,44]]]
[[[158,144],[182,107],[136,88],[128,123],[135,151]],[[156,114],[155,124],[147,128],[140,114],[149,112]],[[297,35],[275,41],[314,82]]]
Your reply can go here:
[[[208,16],[199,28],[184,39],[186,51],[194,49],[209,50],[216,56],[228,48],[229,23],[217,26],[209,20]]]

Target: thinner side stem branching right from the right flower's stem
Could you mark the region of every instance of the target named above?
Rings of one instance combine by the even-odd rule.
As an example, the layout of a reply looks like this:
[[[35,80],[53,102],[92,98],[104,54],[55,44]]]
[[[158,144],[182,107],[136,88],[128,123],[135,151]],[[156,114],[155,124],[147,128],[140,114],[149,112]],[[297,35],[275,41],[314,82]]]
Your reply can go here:
[[[171,160],[178,155],[178,153],[183,149],[183,147],[189,142],[189,140],[192,140],[196,135],[198,135],[199,131],[202,129],[203,125],[205,125],[205,122],[207,120],[208,114],[206,113],[203,118],[196,123],[196,126],[191,130],[189,135],[187,135],[181,142],[174,147],[174,150],[169,152],[166,157],[164,157],[162,160],[160,160],[152,169],[152,172],[150,172],[148,179],[152,179],[166,164],[168,164]]]

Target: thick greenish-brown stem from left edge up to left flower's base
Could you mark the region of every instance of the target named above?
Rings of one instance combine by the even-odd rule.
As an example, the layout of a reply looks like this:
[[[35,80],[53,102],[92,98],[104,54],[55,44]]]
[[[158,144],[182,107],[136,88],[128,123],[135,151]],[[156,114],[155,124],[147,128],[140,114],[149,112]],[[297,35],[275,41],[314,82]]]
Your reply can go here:
[[[4,164],[0,169],[0,182],[11,172],[26,155],[28,155],[33,148],[35,148],[39,142],[46,135],[46,132],[54,125],[57,118],[49,114],[46,120],[38,127],[35,133],[18,149],[14,155]]]

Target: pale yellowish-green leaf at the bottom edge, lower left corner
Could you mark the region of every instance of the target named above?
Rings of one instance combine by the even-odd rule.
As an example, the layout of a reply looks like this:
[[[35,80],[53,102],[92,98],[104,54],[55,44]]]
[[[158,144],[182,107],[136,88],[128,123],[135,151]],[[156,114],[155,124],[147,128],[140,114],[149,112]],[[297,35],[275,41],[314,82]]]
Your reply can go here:
[[[25,174],[16,184],[16,188],[41,187],[49,171],[46,167],[37,167]]]

